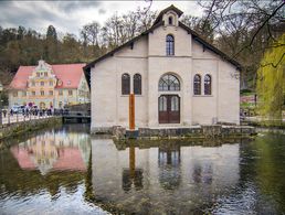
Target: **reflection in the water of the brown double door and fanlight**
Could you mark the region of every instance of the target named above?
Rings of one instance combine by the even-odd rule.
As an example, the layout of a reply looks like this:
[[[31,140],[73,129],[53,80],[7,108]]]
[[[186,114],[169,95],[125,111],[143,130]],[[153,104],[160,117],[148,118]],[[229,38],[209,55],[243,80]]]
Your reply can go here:
[[[158,149],[159,182],[163,189],[176,189],[181,181],[180,146],[165,146]]]

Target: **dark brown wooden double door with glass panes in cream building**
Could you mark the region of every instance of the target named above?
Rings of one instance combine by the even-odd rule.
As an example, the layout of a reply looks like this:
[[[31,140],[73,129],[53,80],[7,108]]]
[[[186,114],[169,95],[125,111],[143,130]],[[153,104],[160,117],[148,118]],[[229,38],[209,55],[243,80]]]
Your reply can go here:
[[[180,98],[178,95],[161,95],[158,98],[159,123],[180,123]]]

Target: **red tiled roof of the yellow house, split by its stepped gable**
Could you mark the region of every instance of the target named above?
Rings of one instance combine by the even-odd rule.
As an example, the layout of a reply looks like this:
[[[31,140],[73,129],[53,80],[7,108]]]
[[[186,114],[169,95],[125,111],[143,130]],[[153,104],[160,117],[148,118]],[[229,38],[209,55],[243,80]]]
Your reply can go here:
[[[51,65],[57,79],[62,80],[61,86],[56,88],[77,88],[81,77],[83,75],[83,67],[86,64],[57,64]],[[15,76],[13,77],[10,88],[24,89],[27,88],[27,82],[33,69],[36,66],[20,66]]]

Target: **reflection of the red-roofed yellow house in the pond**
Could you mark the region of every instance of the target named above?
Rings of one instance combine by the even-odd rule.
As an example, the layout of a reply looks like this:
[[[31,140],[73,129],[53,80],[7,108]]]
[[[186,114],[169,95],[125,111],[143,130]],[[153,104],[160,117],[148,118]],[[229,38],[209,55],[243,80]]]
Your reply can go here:
[[[89,136],[52,130],[30,138],[10,150],[21,169],[38,169],[43,175],[50,171],[86,171],[91,150]]]

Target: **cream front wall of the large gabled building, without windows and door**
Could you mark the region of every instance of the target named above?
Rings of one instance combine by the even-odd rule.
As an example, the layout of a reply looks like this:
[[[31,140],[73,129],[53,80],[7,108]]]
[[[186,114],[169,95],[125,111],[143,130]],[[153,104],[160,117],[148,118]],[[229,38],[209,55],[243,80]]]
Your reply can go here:
[[[175,36],[175,55],[166,56],[166,36]],[[142,78],[142,94],[136,96],[136,127],[181,127],[211,125],[217,121],[239,123],[240,82],[236,68],[219,55],[192,40],[180,26],[161,25],[125,46],[91,69],[92,130],[113,126],[128,127],[128,96],[122,95],[122,75]],[[180,92],[158,92],[162,75],[173,74],[180,80]],[[193,95],[193,76],[202,77],[202,95]],[[203,95],[203,78],[212,77],[212,95]],[[180,97],[180,123],[158,122],[158,97],[175,94]]]

